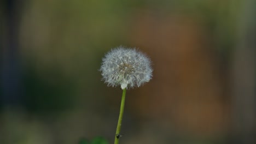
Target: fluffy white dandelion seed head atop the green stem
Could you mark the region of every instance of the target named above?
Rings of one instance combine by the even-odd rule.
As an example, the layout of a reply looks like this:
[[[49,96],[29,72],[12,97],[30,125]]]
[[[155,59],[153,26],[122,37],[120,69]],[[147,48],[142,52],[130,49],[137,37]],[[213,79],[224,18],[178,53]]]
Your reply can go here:
[[[102,80],[108,86],[122,89],[139,87],[152,79],[150,59],[136,49],[119,46],[109,51],[102,59]]]

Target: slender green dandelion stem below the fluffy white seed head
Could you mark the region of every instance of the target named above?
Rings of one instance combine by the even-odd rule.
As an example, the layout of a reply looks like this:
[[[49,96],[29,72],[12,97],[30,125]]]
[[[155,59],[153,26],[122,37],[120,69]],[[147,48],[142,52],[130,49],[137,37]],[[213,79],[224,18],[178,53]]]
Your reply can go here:
[[[121,100],[121,106],[120,106],[120,113],[119,113],[119,118],[118,118],[117,131],[115,131],[115,142],[114,142],[114,144],[118,144],[119,143],[120,129],[121,129],[122,119],[123,119],[123,114],[124,114],[125,93],[126,93],[126,88],[123,89],[123,95],[122,95],[122,100]]]

